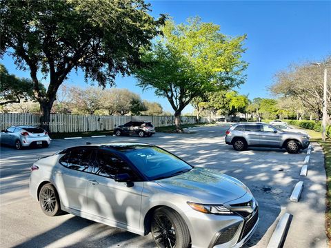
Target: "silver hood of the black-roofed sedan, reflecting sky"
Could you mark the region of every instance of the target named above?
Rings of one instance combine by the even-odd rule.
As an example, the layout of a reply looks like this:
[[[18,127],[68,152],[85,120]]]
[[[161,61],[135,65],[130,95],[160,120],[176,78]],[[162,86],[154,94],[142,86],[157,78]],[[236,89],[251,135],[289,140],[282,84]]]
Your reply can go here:
[[[240,198],[248,191],[243,183],[231,176],[199,167],[156,182],[172,192],[192,196],[205,204],[227,203]]]

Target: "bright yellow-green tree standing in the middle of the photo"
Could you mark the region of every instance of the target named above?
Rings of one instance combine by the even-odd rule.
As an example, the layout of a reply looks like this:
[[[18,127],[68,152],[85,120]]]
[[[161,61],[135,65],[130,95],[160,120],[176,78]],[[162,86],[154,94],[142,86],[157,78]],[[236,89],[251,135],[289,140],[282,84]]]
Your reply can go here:
[[[168,99],[179,132],[181,111],[192,99],[243,83],[245,35],[227,37],[219,32],[219,25],[203,23],[199,18],[179,25],[166,21],[162,31],[163,37],[152,51],[142,56],[147,67],[134,74],[143,89],[153,88],[157,96]]]

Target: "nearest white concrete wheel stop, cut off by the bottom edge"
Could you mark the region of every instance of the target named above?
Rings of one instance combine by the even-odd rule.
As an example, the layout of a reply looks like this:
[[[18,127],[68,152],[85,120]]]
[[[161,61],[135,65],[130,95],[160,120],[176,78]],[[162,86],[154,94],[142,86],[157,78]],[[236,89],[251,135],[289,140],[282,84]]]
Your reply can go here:
[[[285,237],[285,231],[290,225],[290,217],[292,214],[285,213],[281,216],[274,233],[272,234],[267,248],[279,248],[283,244],[283,239]]]

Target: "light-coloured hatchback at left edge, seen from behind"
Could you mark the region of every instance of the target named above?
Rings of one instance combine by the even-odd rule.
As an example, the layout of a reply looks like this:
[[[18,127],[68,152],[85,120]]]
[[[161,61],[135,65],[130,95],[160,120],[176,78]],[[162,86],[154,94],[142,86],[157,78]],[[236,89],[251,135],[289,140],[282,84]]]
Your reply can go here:
[[[16,149],[31,146],[48,147],[50,136],[40,127],[11,126],[1,131],[0,143],[14,146]]]

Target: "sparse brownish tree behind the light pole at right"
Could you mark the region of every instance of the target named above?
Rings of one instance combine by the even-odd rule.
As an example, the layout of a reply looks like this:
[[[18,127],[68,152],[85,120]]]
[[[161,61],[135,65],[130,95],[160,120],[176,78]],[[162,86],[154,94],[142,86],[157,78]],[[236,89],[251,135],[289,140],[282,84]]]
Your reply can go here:
[[[306,110],[322,117],[323,106],[323,69],[330,66],[331,56],[323,59],[321,66],[309,62],[292,64],[274,76],[270,91],[274,96],[297,99]],[[327,101],[331,103],[331,75],[328,74]],[[328,104],[328,114],[331,105]],[[295,111],[295,108],[293,109]]]

